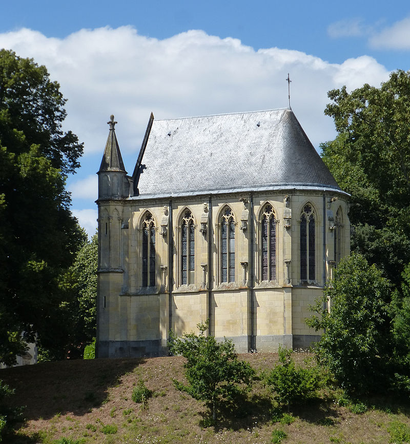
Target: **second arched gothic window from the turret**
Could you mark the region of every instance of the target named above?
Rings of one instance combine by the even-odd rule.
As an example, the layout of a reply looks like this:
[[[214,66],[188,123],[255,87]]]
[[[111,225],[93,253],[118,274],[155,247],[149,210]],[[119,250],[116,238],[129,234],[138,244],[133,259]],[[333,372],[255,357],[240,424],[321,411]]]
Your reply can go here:
[[[190,210],[182,214],[181,222],[181,283],[195,281],[195,227],[194,216]]]

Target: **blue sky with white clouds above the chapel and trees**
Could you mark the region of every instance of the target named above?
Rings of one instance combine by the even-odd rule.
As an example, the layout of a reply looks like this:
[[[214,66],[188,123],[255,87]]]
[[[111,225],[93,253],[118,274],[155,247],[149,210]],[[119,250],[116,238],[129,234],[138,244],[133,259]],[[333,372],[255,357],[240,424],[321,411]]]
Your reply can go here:
[[[69,176],[72,212],[96,230],[109,127],[131,174],[151,112],[173,119],[288,106],[316,149],[336,136],[327,92],[380,86],[410,69],[410,3],[391,0],[19,0],[0,48],[46,65],[67,99],[64,130],[84,142]]]

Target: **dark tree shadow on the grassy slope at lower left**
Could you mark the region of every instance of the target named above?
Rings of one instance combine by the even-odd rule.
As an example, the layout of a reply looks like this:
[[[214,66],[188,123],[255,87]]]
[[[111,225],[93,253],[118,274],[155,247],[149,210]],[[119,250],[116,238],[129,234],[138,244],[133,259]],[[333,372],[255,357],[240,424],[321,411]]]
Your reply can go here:
[[[26,406],[26,420],[68,412],[83,415],[103,404],[108,389],[144,362],[143,358],[48,362],[2,369],[0,380],[15,389],[9,402]]]

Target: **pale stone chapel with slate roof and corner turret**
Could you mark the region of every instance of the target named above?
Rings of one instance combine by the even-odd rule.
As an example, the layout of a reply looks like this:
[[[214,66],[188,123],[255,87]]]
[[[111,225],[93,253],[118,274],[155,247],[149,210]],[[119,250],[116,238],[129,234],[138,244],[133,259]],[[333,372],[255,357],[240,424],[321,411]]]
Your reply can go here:
[[[238,352],[318,339],[309,305],[350,253],[349,195],[291,108],[154,120],[132,175],[114,116],[98,171],[97,356],[168,354],[198,331]]]

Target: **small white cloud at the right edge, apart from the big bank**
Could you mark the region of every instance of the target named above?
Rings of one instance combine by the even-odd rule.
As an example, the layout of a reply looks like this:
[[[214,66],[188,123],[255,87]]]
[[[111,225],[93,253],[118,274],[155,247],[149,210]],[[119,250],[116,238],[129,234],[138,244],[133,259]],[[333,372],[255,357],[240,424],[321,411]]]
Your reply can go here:
[[[410,17],[396,21],[391,27],[384,28],[369,40],[373,48],[378,49],[410,49]]]

